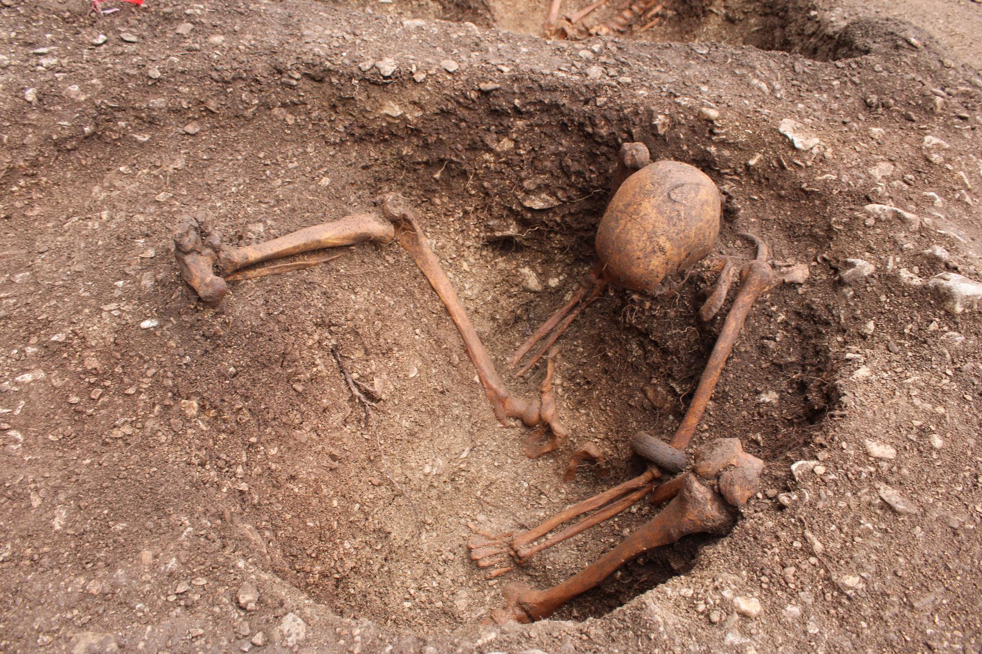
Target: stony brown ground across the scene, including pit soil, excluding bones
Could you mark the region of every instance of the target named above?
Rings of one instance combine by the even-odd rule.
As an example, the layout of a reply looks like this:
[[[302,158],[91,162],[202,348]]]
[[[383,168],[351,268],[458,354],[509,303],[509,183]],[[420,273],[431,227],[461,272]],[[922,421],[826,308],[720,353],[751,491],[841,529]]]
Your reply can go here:
[[[486,29],[544,5],[82,5],[0,7],[0,648],[982,648],[979,322],[928,284],[982,278],[982,79],[944,44],[820,5],[552,42]],[[415,20],[439,17],[472,25]],[[670,38],[702,40],[643,42]],[[765,491],[726,537],[487,626],[503,583],[566,579],[653,514],[491,582],[464,548],[468,522],[531,527],[642,470],[628,434],[678,424],[722,325],[695,317],[710,278],[584,314],[570,442],[532,461],[397,246],[210,310],[171,235],[196,216],[254,242],[400,191],[503,364],[588,268],[627,140],[719,184],[719,252],[749,256],[748,228],[811,272],[751,314],[696,436],[741,438]],[[332,347],[383,398],[372,425]],[[589,441],[612,476],[562,482]]]

